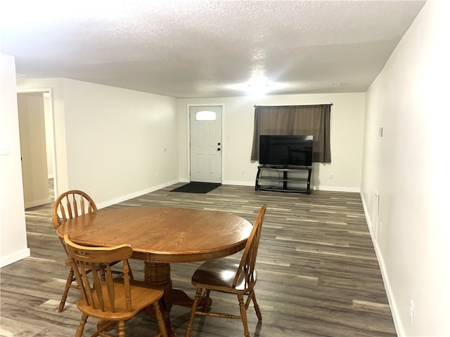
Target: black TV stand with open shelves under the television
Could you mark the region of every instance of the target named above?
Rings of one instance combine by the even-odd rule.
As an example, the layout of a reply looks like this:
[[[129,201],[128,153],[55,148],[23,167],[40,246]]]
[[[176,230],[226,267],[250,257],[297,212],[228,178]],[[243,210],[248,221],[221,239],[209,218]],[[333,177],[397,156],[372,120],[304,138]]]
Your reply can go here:
[[[295,177],[297,172],[307,173],[306,177]],[[277,191],[277,192],[297,192],[311,193],[311,171],[312,166],[273,166],[259,165],[255,180],[255,191]],[[270,173],[281,173],[278,176],[271,176]],[[272,183],[272,184],[271,184]],[[293,184],[300,183],[301,186]]]

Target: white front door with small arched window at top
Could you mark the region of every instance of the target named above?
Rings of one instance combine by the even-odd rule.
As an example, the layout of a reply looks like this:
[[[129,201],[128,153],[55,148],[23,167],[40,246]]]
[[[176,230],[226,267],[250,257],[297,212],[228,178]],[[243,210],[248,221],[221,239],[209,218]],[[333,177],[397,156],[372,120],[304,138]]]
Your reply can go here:
[[[222,107],[189,107],[191,181],[221,183]]]

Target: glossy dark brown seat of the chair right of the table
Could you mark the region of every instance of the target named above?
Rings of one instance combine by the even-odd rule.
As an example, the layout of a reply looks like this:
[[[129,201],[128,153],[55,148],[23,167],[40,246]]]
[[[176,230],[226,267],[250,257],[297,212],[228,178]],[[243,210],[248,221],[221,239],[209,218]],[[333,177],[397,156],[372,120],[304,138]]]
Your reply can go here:
[[[214,289],[231,293],[245,293],[245,273],[241,272],[236,287],[233,288],[233,280],[236,277],[239,263],[229,259],[210,260],[200,265],[192,275],[192,284],[198,288]],[[257,272],[253,273],[255,282]]]

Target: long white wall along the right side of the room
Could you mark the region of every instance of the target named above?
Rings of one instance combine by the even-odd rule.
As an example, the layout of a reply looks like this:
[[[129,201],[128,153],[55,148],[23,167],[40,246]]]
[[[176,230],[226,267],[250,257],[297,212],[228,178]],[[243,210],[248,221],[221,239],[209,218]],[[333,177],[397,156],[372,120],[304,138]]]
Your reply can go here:
[[[369,223],[380,195],[371,225],[399,336],[450,336],[449,15],[428,1],[367,93],[361,194]]]

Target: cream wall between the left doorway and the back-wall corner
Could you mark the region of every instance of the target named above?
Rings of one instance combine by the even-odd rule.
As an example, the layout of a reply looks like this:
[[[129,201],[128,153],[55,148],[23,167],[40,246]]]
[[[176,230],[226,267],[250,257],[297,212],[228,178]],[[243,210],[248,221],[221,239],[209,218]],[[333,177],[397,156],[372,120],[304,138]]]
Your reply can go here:
[[[18,86],[51,88],[59,192],[85,190],[102,208],[179,181],[175,98],[70,79]]]

